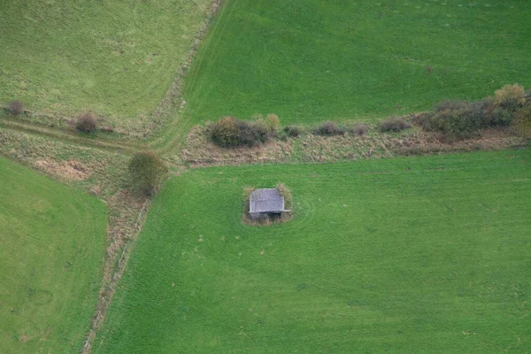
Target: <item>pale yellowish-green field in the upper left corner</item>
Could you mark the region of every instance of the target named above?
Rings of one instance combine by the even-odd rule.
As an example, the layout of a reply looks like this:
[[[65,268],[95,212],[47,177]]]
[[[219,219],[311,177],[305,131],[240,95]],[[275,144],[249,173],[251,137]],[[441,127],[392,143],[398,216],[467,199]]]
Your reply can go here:
[[[208,3],[3,1],[0,103],[142,116],[177,75]]]

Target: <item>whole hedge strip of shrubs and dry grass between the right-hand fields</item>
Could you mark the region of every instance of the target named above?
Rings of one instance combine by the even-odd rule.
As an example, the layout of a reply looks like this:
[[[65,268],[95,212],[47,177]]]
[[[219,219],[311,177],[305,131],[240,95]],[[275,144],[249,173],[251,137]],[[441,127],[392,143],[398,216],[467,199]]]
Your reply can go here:
[[[282,128],[281,120],[274,114],[256,120],[223,117],[217,122],[207,122],[204,127],[195,127],[182,150],[182,158],[191,165],[235,161],[329,162],[496,150],[526,146],[530,129],[529,91],[513,84],[481,101],[444,101],[436,104],[432,112],[390,117],[378,124],[326,121],[318,127]]]

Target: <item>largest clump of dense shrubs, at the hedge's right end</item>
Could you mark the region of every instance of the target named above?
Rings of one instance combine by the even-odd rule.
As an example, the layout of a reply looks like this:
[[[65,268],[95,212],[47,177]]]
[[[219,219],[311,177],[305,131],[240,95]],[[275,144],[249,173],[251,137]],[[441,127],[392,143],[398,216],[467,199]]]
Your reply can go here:
[[[509,127],[530,117],[531,92],[525,92],[518,84],[506,85],[495,92],[494,97],[480,101],[446,100],[426,112],[413,123],[426,131],[443,133],[450,139],[463,139],[477,135],[488,127]]]

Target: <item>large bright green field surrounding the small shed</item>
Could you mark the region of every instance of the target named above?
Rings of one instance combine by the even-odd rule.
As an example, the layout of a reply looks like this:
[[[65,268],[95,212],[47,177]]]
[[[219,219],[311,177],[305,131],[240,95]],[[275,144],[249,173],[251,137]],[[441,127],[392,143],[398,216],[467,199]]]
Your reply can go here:
[[[174,177],[96,352],[525,352],[530,175],[521,150]],[[277,181],[296,219],[242,225]]]

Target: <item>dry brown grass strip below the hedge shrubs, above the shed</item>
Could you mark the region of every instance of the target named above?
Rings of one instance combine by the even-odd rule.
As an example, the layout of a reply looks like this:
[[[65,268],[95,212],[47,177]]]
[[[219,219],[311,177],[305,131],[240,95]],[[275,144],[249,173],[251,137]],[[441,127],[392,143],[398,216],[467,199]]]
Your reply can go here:
[[[220,148],[209,142],[204,127],[190,131],[181,159],[191,167],[207,165],[243,165],[259,163],[329,163],[366,158],[433,155],[475,150],[503,150],[524,146],[526,140],[510,129],[486,129],[477,138],[446,142],[443,135],[412,128],[398,134],[379,133],[373,127],[370,134],[301,135],[298,138],[276,140],[255,148]]]

